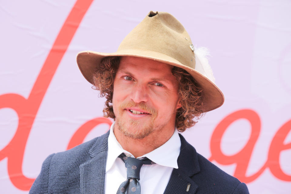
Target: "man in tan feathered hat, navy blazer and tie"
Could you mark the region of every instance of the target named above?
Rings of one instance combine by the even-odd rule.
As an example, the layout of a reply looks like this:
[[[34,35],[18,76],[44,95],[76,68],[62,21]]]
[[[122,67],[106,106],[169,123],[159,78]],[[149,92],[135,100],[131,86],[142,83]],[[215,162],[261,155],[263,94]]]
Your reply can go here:
[[[115,122],[101,137],[50,155],[30,193],[248,193],[178,133],[224,97],[176,18],[151,11],[117,52],[80,52],[77,63]]]

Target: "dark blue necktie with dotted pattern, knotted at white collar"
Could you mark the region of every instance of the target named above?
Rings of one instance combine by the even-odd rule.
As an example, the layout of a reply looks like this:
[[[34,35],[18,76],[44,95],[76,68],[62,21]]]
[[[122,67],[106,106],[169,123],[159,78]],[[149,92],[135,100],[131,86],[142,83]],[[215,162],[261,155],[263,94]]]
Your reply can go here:
[[[144,164],[155,164],[148,158],[136,159],[126,157],[124,153],[118,156],[125,163],[127,179],[122,182],[116,194],[140,194],[139,172]]]

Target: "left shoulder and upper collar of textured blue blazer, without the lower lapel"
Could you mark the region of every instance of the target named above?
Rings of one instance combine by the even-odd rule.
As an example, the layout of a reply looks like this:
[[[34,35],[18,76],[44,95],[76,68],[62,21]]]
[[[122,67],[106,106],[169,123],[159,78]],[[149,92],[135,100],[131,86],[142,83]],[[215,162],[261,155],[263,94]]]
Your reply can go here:
[[[107,151],[108,135],[109,132],[67,151],[51,154],[43,162],[29,193],[80,193],[79,167],[96,154]]]

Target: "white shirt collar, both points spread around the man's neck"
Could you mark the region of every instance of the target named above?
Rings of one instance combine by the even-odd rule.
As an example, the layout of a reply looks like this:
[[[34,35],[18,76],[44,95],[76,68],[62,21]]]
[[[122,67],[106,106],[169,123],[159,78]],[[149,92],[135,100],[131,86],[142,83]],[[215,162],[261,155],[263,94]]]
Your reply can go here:
[[[119,142],[115,138],[115,135],[113,132],[114,124],[115,122],[113,122],[110,127],[110,133],[108,137],[108,155],[107,155],[107,162],[106,162],[106,172],[109,169],[111,169],[116,158],[122,152],[124,152],[125,154],[130,154],[133,157],[133,155],[130,152],[122,148],[122,146],[119,144]],[[177,129],[175,129],[173,135],[166,143],[164,143],[159,148],[138,158],[147,157],[153,162],[161,166],[167,166],[167,167],[178,169],[177,159],[180,154],[180,148],[181,148],[181,140],[180,140]]]

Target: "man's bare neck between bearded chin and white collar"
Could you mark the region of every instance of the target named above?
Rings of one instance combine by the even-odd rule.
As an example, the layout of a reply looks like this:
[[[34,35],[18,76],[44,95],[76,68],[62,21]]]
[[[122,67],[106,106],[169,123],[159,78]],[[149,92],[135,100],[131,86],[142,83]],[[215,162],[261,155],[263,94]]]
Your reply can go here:
[[[134,139],[123,135],[119,131],[118,126],[115,125],[114,135],[122,148],[137,158],[153,151],[154,149],[157,149],[166,143],[172,137],[174,130],[175,127],[172,127],[172,129],[159,129],[153,131],[145,138]]]

